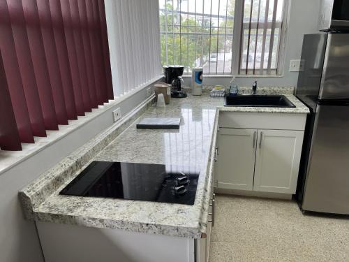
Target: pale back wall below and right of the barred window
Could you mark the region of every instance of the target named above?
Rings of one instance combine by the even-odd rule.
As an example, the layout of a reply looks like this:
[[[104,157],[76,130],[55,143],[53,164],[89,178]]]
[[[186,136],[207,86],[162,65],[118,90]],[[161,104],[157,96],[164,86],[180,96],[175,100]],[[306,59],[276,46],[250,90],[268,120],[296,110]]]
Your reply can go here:
[[[297,72],[290,72],[290,60],[300,59],[302,54],[302,42],[304,34],[318,32],[318,13],[320,12],[319,0],[289,0],[290,20],[288,22],[288,33],[285,43],[285,63],[281,77],[237,77],[235,82],[239,86],[252,87],[255,80],[258,86],[296,86],[298,80]],[[204,85],[229,85],[231,78],[206,77]],[[185,85],[191,85],[191,78],[184,78]]]

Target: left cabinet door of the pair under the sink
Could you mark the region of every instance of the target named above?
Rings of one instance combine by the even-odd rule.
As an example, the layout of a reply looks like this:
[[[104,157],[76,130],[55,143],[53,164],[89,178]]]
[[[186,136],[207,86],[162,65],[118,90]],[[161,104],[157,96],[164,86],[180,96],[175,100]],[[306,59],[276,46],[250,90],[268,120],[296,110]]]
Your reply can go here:
[[[256,129],[220,129],[216,180],[218,189],[253,189]]]

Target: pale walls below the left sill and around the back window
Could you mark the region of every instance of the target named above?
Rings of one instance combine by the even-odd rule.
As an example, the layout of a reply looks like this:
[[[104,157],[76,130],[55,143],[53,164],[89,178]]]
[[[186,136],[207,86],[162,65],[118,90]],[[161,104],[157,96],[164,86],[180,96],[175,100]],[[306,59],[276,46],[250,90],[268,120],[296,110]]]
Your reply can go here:
[[[317,31],[318,0],[291,0],[290,24],[285,54],[285,71],[282,78],[258,78],[258,85],[297,85],[297,73],[288,72],[290,59],[299,59],[303,34]],[[249,86],[255,78],[237,78],[239,85]],[[190,79],[187,79],[188,83]],[[230,79],[206,78],[205,85],[228,85]],[[145,89],[120,104],[122,114],[132,110],[146,98]],[[40,173],[54,166],[97,133],[112,124],[111,112],[106,112],[57,141],[19,165],[0,175],[0,261],[42,262],[38,235],[34,222],[25,221],[17,192]]]

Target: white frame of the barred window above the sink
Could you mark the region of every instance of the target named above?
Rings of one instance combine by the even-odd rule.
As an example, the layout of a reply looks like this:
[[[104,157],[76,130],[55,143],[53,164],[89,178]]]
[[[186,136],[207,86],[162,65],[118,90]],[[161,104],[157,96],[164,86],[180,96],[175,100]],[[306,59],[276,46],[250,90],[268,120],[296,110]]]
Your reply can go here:
[[[252,0],[253,1],[253,0]],[[242,34],[244,29],[244,23],[243,17],[244,17],[244,0],[237,0],[235,1],[235,17],[234,21],[234,27],[233,27],[233,35],[235,37],[232,38],[232,59],[231,59],[231,71],[229,73],[207,73],[205,74],[205,77],[209,78],[231,78],[233,75],[237,78],[280,78],[283,77],[284,73],[284,65],[285,65],[285,45],[286,45],[286,39],[288,35],[288,22],[290,18],[290,0],[284,0],[283,2],[283,17],[281,23],[281,34],[280,34],[280,41],[278,45],[278,51],[277,51],[277,65],[276,68],[271,68],[272,74],[260,74],[255,73],[253,74],[253,69],[248,69],[248,73],[244,74],[242,71],[245,71],[246,69],[241,68],[241,59],[242,59]],[[276,27],[279,28],[279,27]],[[238,48],[234,48],[234,46],[237,46]],[[166,56],[168,54],[166,53]],[[237,59],[236,59],[237,58]],[[258,69],[260,71],[260,69]],[[263,71],[267,71],[266,68],[263,69]],[[275,73],[274,73],[275,72]],[[183,75],[184,78],[190,78],[191,77],[191,71],[186,72]]]

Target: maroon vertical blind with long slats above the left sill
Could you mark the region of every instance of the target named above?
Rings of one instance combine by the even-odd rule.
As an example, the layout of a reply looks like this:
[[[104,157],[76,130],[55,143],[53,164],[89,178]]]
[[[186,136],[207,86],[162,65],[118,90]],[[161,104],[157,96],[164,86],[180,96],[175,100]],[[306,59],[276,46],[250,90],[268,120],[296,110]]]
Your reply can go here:
[[[113,99],[104,1],[0,0],[0,148]]]

